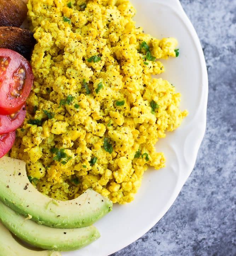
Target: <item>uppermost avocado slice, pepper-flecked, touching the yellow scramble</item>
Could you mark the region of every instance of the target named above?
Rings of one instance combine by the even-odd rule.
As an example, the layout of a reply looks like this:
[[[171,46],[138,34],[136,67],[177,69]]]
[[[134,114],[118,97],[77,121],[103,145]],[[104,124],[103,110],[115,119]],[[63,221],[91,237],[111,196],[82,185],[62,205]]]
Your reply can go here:
[[[0,159],[0,200],[12,210],[55,228],[90,226],[112,209],[112,202],[87,189],[73,200],[54,200],[41,194],[28,180],[25,162],[10,157]]]

